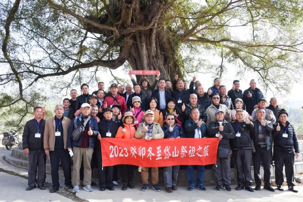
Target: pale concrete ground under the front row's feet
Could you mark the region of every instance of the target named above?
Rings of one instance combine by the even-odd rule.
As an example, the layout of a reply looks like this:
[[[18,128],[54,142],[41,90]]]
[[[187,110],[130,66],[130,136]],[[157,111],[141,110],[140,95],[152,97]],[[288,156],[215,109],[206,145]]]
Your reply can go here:
[[[2,157],[11,155],[11,151],[0,148],[0,168],[6,171],[13,171],[15,173],[27,176],[27,170],[21,169],[7,163]],[[47,174],[46,181],[51,183],[51,176]],[[96,180],[94,180],[96,181]],[[60,184],[64,185],[64,178],[60,176]],[[268,190],[261,189],[261,191],[255,191],[253,193],[247,190],[236,191],[236,185],[231,186],[231,192],[226,190],[216,191],[215,186],[207,186],[206,191],[186,190],[187,187],[178,187],[178,190],[172,193],[166,193],[164,187],[161,187],[161,192],[155,192],[151,185],[147,191],[141,191],[142,184],[135,184],[135,189],[128,189],[126,191],[121,190],[121,184],[115,187],[114,191],[99,191],[98,186],[93,186],[93,192],[86,192],[83,188],[80,188],[80,192],[76,194],[76,201],[101,201],[101,202],[208,202],[208,201],[301,201],[303,198],[303,186],[299,185],[296,188],[299,193],[293,193],[287,190],[270,192]],[[8,201],[72,201],[71,199],[59,195],[51,194],[47,190],[39,190],[35,188],[31,191],[25,191],[27,187],[27,180],[0,172],[0,202]],[[274,187],[275,188],[275,187]],[[74,195],[68,193],[70,195]],[[65,194],[66,195],[66,194]]]

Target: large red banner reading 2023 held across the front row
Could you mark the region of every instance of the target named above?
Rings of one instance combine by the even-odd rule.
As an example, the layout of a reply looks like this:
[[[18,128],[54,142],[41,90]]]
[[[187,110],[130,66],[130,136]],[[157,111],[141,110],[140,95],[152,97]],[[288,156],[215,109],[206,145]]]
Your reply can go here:
[[[102,165],[131,164],[143,167],[215,164],[218,138],[131,140],[102,138]]]

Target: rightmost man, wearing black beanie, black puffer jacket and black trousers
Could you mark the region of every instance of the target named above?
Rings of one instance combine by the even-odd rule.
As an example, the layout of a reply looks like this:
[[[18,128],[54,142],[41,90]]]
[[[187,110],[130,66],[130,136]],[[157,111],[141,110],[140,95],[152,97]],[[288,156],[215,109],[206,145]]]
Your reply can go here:
[[[274,131],[272,131],[274,138],[275,178],[278,190],[283,191],[283,165],[285,165],[288,189],[293,192],[298,192],[298,190],[294,188],[294,163],[295,158],[299,157],[299,143],[295,129],[287,121],[287,118],[287,112],[282,109],[278,114],[279,121],[277,124],[274,124]]]

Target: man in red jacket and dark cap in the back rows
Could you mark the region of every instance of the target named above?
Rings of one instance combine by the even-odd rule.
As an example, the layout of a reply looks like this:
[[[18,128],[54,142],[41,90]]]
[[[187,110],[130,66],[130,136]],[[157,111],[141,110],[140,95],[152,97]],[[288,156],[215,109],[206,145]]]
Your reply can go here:
[[[125,98],[118,94],[118,85],[112,84],[110,88],[111,95],[104,98],[102,108],[112,108],[113,105],[119,105],[121,107],[122,116],[127,110]]]

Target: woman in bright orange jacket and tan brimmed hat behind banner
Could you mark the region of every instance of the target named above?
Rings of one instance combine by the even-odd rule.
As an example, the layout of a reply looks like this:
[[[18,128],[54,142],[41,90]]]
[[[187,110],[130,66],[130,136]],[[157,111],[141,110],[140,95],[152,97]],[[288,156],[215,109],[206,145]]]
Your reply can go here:
[[[132,112],[127,111],[124,114],[122,119],[122,126],[118,128],[116,133],[116,138],[127,138],[127,139],[135,139],[135,132],[137,130],[135,122],[135,117]],[[135,186],[132,183],[132,178],[134,175],[134,165],[121,165],[121,176],[122,176],[122,190],[127,190],[127,187],[134,189]]]

